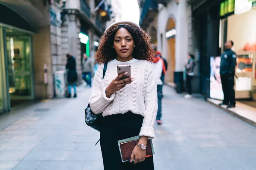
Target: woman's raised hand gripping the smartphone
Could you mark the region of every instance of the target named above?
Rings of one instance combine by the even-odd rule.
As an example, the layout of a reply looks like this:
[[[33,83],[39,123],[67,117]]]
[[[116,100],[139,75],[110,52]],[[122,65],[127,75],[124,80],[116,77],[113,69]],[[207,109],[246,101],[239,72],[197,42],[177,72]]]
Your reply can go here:
[[[121,90],[125,87],[125,85],[131,84],[131,82],[134,81],[133,77],[127,77],[125,79],[122,79],[122,77],[125,77],[125,75],[128,74],[127,72],[119,74],[115,79],[112,80],[112,82],[108,85],[106,88],[106,96],[110,98],[110,96],[115,93],[116,91]]]

